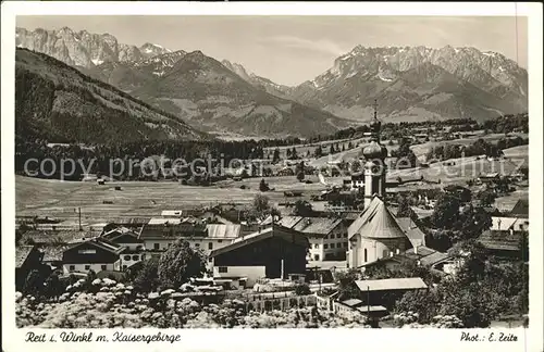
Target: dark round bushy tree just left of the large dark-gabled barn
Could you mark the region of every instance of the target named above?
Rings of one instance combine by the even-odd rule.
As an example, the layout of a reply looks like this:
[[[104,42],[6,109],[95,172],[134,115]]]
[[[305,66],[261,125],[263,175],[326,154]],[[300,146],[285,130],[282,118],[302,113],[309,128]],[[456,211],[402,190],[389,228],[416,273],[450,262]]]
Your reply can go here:
[[[162,288],[178,288],[191,277],[202,277],[206,260],[202,253],[190,248],[189,242],[178,239],[159,260],[159,280]]]

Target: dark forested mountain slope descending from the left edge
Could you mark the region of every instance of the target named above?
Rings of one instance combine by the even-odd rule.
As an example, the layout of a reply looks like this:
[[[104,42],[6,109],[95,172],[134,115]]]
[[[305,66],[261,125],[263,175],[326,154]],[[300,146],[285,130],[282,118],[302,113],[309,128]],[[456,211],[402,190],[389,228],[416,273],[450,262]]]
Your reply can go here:
[[[108,143],[210,137],[42,53],[15,52],[15,134],[55,142]]]

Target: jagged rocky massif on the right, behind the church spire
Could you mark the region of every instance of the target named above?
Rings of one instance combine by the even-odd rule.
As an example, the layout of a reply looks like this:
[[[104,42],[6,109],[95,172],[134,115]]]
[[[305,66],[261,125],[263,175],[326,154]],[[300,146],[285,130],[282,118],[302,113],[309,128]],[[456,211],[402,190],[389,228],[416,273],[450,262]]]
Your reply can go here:
[[[471,117],[527,111],[528,74],[496,52],[474,48],[364,48],[289,90],[289,97],[333,114],[369,120],[374,99],[388,121]]]

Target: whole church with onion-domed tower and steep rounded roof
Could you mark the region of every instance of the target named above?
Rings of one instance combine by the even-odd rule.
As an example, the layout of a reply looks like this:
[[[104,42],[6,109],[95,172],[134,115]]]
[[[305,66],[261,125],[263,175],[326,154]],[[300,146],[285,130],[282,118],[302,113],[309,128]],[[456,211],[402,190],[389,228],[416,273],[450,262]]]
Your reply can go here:
[[[348,267],[359,267],[425,244],[424,234],[417,225],[409,218],[397,218],[385,203],[387,148],[380,143],[381,123],[375,110],[370,128],[371,142],[362,150],[364,210],[348,228]]]

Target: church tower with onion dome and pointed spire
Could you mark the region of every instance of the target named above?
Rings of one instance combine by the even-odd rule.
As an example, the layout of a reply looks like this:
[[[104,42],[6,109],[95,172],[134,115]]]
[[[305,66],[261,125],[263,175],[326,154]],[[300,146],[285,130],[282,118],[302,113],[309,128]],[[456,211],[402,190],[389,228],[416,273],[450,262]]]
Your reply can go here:
[[[378,121],[378,102],[374,100],[374,118],[370,123],[371,142],[362,150],[364,156],[364,208],[368,208],[374,194],[382,199],[385,197],[385,158],[387,148],[380,143],[380,129],[382,124]]]

